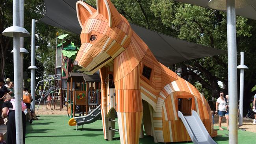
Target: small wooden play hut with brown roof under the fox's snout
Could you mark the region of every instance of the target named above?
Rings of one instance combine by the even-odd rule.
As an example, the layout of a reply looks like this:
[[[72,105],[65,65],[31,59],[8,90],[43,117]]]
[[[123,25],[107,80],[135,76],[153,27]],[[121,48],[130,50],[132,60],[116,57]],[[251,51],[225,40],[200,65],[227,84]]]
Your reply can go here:
[[[70,72],[67,78],[67,113],[84,115],[100,105],[100,76]]]

